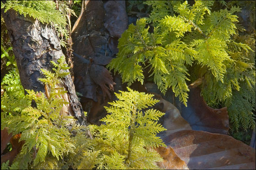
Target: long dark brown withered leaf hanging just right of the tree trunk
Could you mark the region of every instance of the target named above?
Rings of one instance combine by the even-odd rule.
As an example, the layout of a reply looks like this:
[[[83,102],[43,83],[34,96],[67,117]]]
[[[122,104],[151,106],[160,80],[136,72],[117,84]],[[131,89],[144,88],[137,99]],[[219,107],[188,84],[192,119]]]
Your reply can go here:
[[[81,98],[97,102],[97,95],[110,98],[115,85],[109,70],[104,67],[109,64],[113,53],[108,47],[110,35],[104,27],[103,2],[89,0],[84,6],[72,32],[74,85],[82,94]]]

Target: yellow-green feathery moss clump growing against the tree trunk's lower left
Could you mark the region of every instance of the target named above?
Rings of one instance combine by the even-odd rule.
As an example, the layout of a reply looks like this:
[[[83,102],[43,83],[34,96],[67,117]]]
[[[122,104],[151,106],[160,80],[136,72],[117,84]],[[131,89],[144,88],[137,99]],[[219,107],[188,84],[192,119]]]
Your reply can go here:
[[[8,127],[9,133],[12,132],[13,134],[22,132],[20,140],[25,141],[19,153],[20,168],[27,168],[35,152],[37,154],[33,160],[34,166],[44,161],[47,154],[51,154],[59,160],[63,158],[64,153],[71,153],[74,150],[70,138],[71,134],[67,128],[74,119],[71,116],[60,114],[63,105],[67,104],[61,97],[66,91],[64,91],[64,88],[56,86],[59,83],[57,77],[67,75],[62,70],[67,69],[67,67],[64,64],[64,57],[58,59],[58,62],[59,65],[54,64],[57,66],[54,69],[55,74],[42,70],[47,78],[41,78],[40,80],[48,86],[51,92],[49,98],[46,98],[44,93],[27,90],[28,94],[23,99],[26,104],[23,108],[18,107],[18,109],[17,106],[13,105],[17,103],[11,102],[11,97],[6,93],[1,98],[1,102],[6,104],[2,106],[5,109],[1,112],[1,129]],[[6,102],[5,100],[8,99],[9,102]],[[37,103],[37,108],[30,106],[32,100]],[[20,110],[22,111],[20,112]]]

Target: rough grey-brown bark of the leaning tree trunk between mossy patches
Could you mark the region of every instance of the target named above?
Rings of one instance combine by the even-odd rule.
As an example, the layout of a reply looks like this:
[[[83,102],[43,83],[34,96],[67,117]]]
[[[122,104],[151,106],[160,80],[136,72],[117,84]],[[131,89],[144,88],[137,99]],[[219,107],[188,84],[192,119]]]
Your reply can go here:
[[[24,89],[45,93],[44,84],[38,80],[43,77],[40,69],[52,71],[53,66],[50,61],[57,62],[57,59],[64,55],[55,28],[52,25],[43,25],[28,15],[26,17],[19,15],[13,9],[9,9],[6,13],[1,10],[1,14],[13,46],[22,86]],[[68,91],[64,96],[69,102],[65,112],[78,119],[79,124],[87,125],[71,76],[62,78],[62,82],[65,90]]]

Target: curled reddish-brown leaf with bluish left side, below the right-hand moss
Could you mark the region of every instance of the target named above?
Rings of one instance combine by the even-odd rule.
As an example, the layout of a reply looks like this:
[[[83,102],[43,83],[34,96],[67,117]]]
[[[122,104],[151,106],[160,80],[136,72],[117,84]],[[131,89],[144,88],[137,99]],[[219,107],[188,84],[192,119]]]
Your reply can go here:
[[[188,107],[183,105],[181,115],[193,130],[210,133],[228,134],[229,115],[227,107],[213,109],[207,106],[199,87],[190,89]]]

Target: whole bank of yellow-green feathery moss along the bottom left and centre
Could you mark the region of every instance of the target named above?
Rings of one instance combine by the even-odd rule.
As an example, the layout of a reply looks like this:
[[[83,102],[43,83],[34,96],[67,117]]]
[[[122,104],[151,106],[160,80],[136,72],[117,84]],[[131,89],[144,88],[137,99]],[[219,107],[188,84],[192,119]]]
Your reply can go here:
[[[17,72],[10,72],[2,83],[6,90],[1,97],[1,129],[9,133],[21,133],[25,141],[13,165],[19,169],[157,169],[156,161],[162,161],[153,149],[165,146],[158,132],[165,130],[157,123],[164,113],[144,110],[158,100],[153,94],[128,92],[116,93],[118,101],[111,102],[106,110],[110,113],[101,126],[76,125],[71,116],[60,114],[67,102],[61,97],[66,91],[60,88],[60,77],[69,72],[64,57],[51,73],[42,70],[46,78],[40,78],[49,91],[44,93],[26,90],[24,95]],[[15,77],[12,81],[10,76]],[[14,86],[17,85],[17,86]],[[37,107],[31,107],[34,100]],[[20,103],[19,103],[20,102]],[[2,168],[9,168],[8,163]]]

